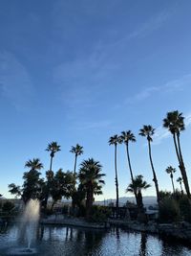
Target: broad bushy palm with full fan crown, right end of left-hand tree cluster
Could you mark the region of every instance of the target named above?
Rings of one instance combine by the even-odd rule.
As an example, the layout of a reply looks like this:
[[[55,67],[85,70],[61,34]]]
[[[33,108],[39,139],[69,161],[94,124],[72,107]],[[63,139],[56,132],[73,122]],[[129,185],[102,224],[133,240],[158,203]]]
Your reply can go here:
[[[102,179],[104,174],[100,174],[102,166],[93,158],[84,160],[79,169],[80,184],[84,187],[86,192],[86,217],[89,218],[93,206],[94,195],[102,194],[101,188],[105,184]]]

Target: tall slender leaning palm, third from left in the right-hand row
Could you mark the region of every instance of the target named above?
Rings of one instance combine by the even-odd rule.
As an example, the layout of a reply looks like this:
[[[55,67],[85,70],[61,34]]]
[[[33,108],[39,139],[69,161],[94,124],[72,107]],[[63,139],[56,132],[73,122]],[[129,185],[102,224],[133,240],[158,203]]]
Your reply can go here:
[[[153,172],[153,181],[155,183],[155,187],[156,187],[156,193],[157,193],[157,199],[159,202],[159,184],[158,184],[158,179],[157,179],[157,175],[155,172],[155,168],[154,168],[154,164],[153,164],[153,160],[152,160],[152,155],[151,155],[151,142],[153,141],[152,136],[155,133],[155,128],[152,128],[152,126],[143,126],[143,128],[139,129],[139,135],[146,137],[147,141],[148,141],[148,148],[149,148],[149,159],[150,159],[150,163],[151,163],[151,169]]]

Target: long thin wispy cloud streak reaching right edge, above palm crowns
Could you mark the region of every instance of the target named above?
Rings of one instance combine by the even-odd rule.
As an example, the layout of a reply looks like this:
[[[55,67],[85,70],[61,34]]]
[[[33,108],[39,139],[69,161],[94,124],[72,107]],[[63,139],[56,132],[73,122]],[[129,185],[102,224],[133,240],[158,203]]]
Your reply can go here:
[[[125,100],[125,104],[137,104],[156,93],[173,93],[176,91],[181,91],[187,85],[191,84],[191,74],[187,74],[178,80],[168,81],[160,86],[146,87],[136,95]]]

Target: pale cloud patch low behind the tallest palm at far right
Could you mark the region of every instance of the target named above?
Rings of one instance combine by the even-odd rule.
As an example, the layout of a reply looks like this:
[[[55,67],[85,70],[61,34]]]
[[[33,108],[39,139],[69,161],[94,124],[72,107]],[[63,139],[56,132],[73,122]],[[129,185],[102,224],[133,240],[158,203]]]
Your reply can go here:
[[[191,126],[191,113],[184,115],[184,117],[185,128],[188,128]],[[168,129],[162,127],[156,128],[153,144],[159,145],[164,139],[168,138],[169,136],[171,136],[171,133]]]

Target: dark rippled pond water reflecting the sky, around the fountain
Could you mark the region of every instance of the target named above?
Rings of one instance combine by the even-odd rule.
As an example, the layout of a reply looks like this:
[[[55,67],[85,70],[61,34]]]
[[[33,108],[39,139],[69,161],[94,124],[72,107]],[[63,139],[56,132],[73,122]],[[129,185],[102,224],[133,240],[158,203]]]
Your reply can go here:
[[[0,256],[31,255],[18,253],[27,246],[18,239],[18,232],[16,226],[1,230]],[[186,245],[117,227],[98,231],[46,225],[39,227],[36,238],[32,243],[36,256],[191,256],[191,247]]]

